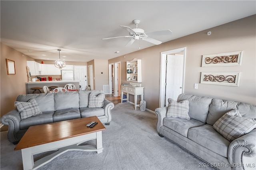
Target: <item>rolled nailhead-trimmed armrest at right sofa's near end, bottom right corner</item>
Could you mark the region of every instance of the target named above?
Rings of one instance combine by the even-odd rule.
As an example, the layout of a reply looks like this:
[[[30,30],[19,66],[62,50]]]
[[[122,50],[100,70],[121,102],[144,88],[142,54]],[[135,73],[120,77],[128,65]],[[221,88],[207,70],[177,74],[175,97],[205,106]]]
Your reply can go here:
[[[245,166],[244,162],[248,163],[247,160],[244,160],[246,157],[254,157],[254,159],[250,160],[256,160],[256,129],[235,139],[228,147],[228,162],[230,164],[234,166]],[[255,166],[255,163],[255,161],[249,161],[251,166]]]

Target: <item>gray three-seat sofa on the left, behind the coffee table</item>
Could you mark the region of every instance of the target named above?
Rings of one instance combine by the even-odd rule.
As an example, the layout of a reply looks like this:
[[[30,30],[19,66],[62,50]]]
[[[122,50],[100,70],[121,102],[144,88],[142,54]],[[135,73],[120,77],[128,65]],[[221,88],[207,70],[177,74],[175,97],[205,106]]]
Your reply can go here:
[[[114,108],[114,104],[104,98],[103,107],[88,107],[91,92],[95,96],[104,94],[102,90],[90,90],[19,95],[16,99],[19,102],[28,102],[34,98],[42,114],[21,119],[20,113],[15,108],[3,115],[1,117],[1,123],[9,126],[8,140],[14,144],[18,143],[28,127],[33,125],[77,119],[80,117],[96,115],[102,123],[109,125],[112,120],[110,110]]]

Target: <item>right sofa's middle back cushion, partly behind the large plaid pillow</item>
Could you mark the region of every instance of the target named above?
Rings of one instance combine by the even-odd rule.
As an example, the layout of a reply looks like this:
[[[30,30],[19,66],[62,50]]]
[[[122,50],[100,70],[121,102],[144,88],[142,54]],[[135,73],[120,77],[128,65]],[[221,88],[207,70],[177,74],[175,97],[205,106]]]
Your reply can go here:
[[[233,109],[237,109],[237,105],[237,102],[213,99],[212,104],[209,108],[209,114],[206,123],[209,125],[213,125],[225,113]]]

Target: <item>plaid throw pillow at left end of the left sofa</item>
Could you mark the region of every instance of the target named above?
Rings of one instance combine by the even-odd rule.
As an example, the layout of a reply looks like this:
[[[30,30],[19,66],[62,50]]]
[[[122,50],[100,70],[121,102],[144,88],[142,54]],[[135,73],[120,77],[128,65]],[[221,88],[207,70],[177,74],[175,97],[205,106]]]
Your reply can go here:
[[[26,119],[28,117],[32,117],[35,115],[42,114],[40,107],[35,99],[30,99],[28,102],[14,102],[15,106],[17,107],[20,118]]]

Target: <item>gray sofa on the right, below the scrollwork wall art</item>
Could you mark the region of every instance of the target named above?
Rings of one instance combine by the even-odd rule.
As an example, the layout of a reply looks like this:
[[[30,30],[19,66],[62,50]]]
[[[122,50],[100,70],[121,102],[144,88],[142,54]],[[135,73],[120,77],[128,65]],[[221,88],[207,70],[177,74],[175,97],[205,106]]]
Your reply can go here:
[[[180,94],[177,102],[183,100],[189,101],[190,120],[166,117],[168,107],[155,110],[159,136],[170,139],[207,162],[199,164],[198,168],[256,168],[256,129],[229,141],[213,128],[220,117],[233,109],[237,109],[242,117],[255,120],[256,106],[192,94]]]

